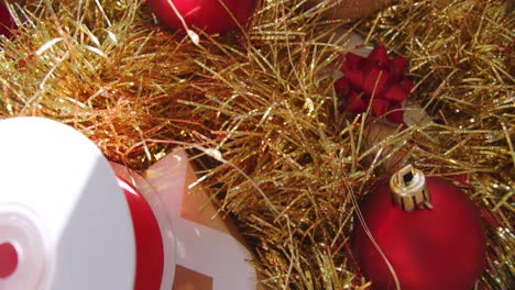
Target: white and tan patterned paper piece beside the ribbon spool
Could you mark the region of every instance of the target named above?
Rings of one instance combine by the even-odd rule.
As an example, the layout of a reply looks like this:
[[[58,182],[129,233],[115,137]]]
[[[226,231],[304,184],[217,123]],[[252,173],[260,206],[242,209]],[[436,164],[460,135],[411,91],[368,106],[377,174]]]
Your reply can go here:
[[[171,153],[143,177],[154,188],[172,221],[177,245],[173,290],[256,289],[250,252],[229,221],[216,215],[206,192],[188,186],[197,181],[185,152]]]

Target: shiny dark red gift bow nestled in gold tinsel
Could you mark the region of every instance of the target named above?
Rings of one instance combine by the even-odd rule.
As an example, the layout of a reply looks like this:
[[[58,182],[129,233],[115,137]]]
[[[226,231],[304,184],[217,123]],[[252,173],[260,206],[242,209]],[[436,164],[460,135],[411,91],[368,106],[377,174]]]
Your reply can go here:
[[[403,123],[402,102],[414,88],[404,75],[406,63],[401,56],[388,59],[383,45],[368,58],[348,53],[341,66],[344,76],[335,82],[336,91],[346,96],[340,110],[358,114],[370,104],[373,116],[386,115],[392,122]]]

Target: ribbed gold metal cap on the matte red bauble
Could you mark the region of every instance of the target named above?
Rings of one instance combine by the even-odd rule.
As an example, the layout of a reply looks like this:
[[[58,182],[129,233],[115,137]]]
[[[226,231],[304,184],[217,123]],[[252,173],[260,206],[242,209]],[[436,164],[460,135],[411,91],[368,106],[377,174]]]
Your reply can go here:
[[[432,209],[431,196],[426,185],[423,171],[407,165],[390,179],[392,200],[403,211],[412,212],[416,209]]]

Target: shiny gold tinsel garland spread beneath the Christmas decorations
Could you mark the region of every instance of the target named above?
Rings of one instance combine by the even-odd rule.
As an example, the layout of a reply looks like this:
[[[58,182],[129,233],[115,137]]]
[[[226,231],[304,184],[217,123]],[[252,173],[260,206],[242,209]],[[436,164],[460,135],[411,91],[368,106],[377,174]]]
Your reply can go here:
[[[156,27],[138,0],[17,3],[19,32],[2,38],[0,116],[74,125],[134,169],[174,143],[220,150],[224,163],[193,153],[263,285],[366,287],[348,243],[354,202],[391,172],[393,155],[428,174],[467,176],[489,225],[478,287],[515,283],[509,1],[405,0],[359,22],[324,21],[324,8],[305,11],[304,1],[262,1],[246,33],[201,34],[198,46]],[[435,122],[365,147],[373,121],[336,110],[342,32],[407,56],[417,83],[409,98]]]

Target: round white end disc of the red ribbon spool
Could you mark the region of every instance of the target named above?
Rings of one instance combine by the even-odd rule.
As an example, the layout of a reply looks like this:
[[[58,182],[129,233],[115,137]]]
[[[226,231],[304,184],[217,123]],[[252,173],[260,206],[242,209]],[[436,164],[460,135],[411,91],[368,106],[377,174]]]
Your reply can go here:
[[[0,136],[0,246],[17,255],[0,289],[132,289],[130,211],[95,144],[41,118],[2,120]]]

